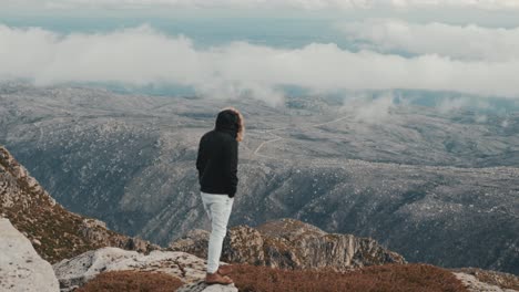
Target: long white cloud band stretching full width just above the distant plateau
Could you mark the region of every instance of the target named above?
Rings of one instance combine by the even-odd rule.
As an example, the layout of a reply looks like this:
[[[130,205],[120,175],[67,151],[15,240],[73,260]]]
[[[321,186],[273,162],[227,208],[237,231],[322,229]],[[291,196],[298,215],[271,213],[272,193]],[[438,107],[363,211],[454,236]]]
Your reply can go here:
[[[276,104],[281,87],[315,92],[418,88],[519,97],[519,60],[460,61],[350,52],[336,44],[278,49],[232,42],[196,49],[185,36],[142,25],[110,33],[57,34],[0,25],[0,80],[175,84],[202,95],[251,95]]]

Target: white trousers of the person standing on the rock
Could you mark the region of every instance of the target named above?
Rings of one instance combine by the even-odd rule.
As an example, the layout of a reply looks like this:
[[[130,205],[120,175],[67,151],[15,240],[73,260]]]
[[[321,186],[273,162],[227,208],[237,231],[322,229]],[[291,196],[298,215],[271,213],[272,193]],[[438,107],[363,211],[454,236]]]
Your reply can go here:
[[[211,221],[211,236],[207,249],[207,273],[218,270],[222,244],[227,232],[228,217],[233,209],[234,198],[227,195],[215,195],[201,191],[204,209]]]

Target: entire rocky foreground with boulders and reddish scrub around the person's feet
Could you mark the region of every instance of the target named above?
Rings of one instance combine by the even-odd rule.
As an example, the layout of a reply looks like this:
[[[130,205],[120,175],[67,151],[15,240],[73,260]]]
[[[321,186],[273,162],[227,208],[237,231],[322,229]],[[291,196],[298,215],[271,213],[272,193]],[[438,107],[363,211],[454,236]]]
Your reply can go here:
[[[93,284],[94,282],[105,281],[99,284],[113,288],[118,286],[118,277],[124,275],[126,278],[119,280],[119,286],[123,282],[129,282],[128,277],[139,278],[145,282],[145,279],[156,281],[161,278],[162,280],[170,279],[167,283],[174,283],[179,288],[177,291],[183,292],[237,292],[234,284],[207,286],[204,283],[206,262],[191,253],[205,258],[206,231],[193,230],[190,232],[192,236],[177,240],[172,244],[173,249],[190,250],[191,253],[163,250],[150,251],[154,247],[144,241],[139,242],[146,244],[135,246],[141,252],[111,247],[95,249],[94,244],[110,244],[113,242],[118,244],[125,242],[128,248],[128,242],[134,242],[133,244],[135,244],[138,241],[104,229],[103,223],[92,221],[94,219],[90,219],[90,223],[86,225],[89,228],[93,228],[93,231],[82,229],[83,226],[77,225],[79,216],[70,213],[57,205],[6,148],[1,148],[1,154],[2,180],[0,182],[2,191],[0,198],[2,199],[2,211],[6,211],[2,217],[9,215],[12,220],[18,222],[33,222],[33,229],[45,230],[50,228],[48,232],[29,230],[22,234],[8,219],[0,218],[0,289],[2,291],[55,292],[61,290],[68,292],[78,288],[80,288],[80,291],[83,291],[83,289],[86,289],[85,291],[98,291],[95,284]],[[42,207],[48,209],[34,208],[35,199],[41,202]],[[47,206],[45,202],[49,202],[52,208],[60,207],[60,212]],[[13,210],[19,212],[14,213]],[[45,220],[41,218],[40,212],[47,216]],[[57,222],[53,223],[52,220],[57,220]],[[95,225],[91,225],[92,222],[95,222]],[[67,226],[69,229],[55,226],[57,223]],[[20,226],[21,228],[24,227],[24,225]],[[68,233],[79,231],[81,231],[82,237],[80,233]],[[26,236],[32,237],[32,242]],[[47,244],[50,244],[51,248],[47,247]],[[93,249],[73,255],[79,253],[86,244]],[[62,258],[62,254],[72,254],[73,258],[63,259],[51,267],[49,262],[40,258],[32,246],[39,249],[41,255],[51,260]],[[50,250],[52,253],[49,253]],[[235,265],[233,269],[232,277],[237,279],[236,284],[247,291],[251,289],[255,291],[256,285],[271,285],[271,288],[277,285],[279,289],[304,285],[308,288],[307,291],[319,290],[319,285],[316,285],[315,282],[307,284],[301,282],[301,277],[315,278],[316,273],[317,278],[326,275],[328,278],[326,283],[330,288],[335,286],[334,291],[340,291],[343,285],[354,284],[354,279],[358,280],[360,275],[365,279],[363,281],[379,281],[380,285],[389,289],[395,285],[399,288],[419,286],[419,283],[423,283],[423,285],[430,283],[438,286],[456,286],[456,290],[452,291],[464,292],[511,292],[519,289],[519,278],[511,274],[476,269],[462,269],[452,273],[430,265],[404,264],[403,257],[381,248],[372,239],[327,233],[317,227],[293,219],[268,221],[256,229],[245,226],[235,227],[227,234],[224,253],[224,258],[226,257],[233,263],[260,264],[256,268],[255,265]],[[222,262],[221,264],[226,263]],[[265,267],[261,265],[272,268],[265,270]],[[363,267],[367,265],[375,269],[363,270]],[[306,275],[291,274],[287,273],[289,270],[273,268],[295,269],[305,272]],[[349,274],[330,274],[330,270],[347,270]],[[323,271],[325,271],[324,274],[322,274]],[[121,273],[118,274],[118,272]],[[413,275],[408,275],[409,272]],[[282,281],[276,280],[273,283],[254,282],[251,281],[252,275],[250,273],[253,273],[253,275],[262,273],[261,275],[265,279],[282,277]],[[101,280],[102,277],[100,275],[106,275],[106,278]],[[435,281],[434,279],[438,279],[438,277],[445,278],[444,280],[449,282],[444,282],[444,280]],[[431,279],[432,282],[428,282]],[[159,282],[150,282],[150,280],[147,280],[147,284],[151,284],[153,290],[155,289],[153,283]],[[314,288],[309,288],[308,284]],[[366,283],[356,283],[356,285],[359,284],[362,286],[366,285]],[[156,289],[162,288],[156,286]],[[126,289],[123,290],[126,291]],[[121,289],[111,291],[121,291]],[[389,291],[394,290],[390,289]]]

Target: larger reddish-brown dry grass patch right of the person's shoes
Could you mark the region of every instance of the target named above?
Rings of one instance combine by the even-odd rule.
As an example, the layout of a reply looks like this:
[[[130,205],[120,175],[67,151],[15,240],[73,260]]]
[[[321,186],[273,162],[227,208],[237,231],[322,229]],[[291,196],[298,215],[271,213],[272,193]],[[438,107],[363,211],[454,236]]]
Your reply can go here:
[[[444,269],[428,264],[385,264],[352,272],[278,270],[236,264],[231,273],[242,292],[466,292],[464,284]]]

